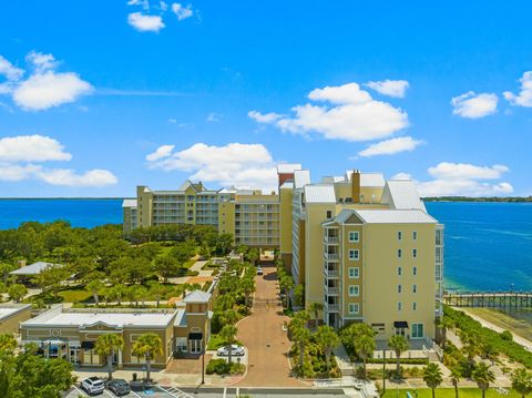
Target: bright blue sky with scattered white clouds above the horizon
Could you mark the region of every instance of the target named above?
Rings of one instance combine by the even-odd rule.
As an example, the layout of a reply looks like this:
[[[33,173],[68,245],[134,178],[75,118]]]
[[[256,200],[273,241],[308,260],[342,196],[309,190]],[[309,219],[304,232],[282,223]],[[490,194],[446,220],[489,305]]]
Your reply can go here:
[[[530,195],[532,4],[510,4],[8,2],[0,196],[269,187],[277,162]]]

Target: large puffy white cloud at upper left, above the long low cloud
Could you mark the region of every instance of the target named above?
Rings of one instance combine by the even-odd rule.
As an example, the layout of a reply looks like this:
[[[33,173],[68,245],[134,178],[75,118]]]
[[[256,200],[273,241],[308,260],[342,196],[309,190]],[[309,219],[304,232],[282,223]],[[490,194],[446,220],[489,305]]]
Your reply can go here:
[[[48,71],[33,74],[20,83],[13,91],[13,101],[23,110],[42,111],[74,102],[92,90],[92,85],[76,73]]]

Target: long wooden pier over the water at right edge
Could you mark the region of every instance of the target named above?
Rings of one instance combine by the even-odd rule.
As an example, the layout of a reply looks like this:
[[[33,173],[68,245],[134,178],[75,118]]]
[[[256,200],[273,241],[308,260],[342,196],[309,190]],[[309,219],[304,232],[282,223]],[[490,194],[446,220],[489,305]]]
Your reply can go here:
[[[443,303],[452,307],[529,308],[532,292],[446,292]]]

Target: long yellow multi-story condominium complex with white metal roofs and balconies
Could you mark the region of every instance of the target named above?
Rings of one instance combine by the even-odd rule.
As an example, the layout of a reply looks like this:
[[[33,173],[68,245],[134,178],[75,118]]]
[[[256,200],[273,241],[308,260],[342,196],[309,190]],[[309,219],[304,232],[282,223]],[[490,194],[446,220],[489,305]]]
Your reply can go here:
[[[279,165],[277,174],[278,193],[270,195],[190,182],[177,192],[140,186],[136,203],[124,202],[124,229],[202,224],[198,197],[209,196],[217,205],[205,224],[232,233],[237,245],[279,249],[305,285],[305,305],[324,304],[326,324],[366,322],[382,339],[433,338],[442,310],[443,226],[427,213],[413,182],[348,171],[311,183],[299,164]],[[126,224],[135,212],[136,225]]]

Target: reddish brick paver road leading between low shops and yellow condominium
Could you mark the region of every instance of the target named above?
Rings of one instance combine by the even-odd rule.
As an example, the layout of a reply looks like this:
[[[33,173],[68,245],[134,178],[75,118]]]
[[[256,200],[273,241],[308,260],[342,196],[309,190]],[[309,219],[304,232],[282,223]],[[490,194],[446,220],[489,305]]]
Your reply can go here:
[[[283,330],[283,322],[288,318],[282,315],[276,269],[263,269],[264,275],[255,277],[253,314],[237,325],[237,337],[249,353],[247,375],[238,386],[303,387],[303,382],[290,377],[287,354],[291,343]]]

